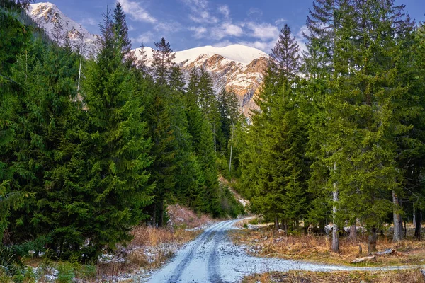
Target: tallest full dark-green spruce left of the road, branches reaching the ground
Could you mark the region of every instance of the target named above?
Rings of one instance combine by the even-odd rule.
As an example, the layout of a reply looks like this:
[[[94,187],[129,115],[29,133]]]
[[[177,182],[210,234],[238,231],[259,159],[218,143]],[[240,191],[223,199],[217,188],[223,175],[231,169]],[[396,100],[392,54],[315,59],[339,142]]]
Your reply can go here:
[[[152,203],[152,186],[147,185],[152,161],[142,99],[135,93],[134,74],[123,64],[123,52],[114,48],[117,42],[108,12],[101,31],[101,49],[89,62],[83,88],[89,127],[80,134],[91,168],[84,188],[93,202],[86,223],[91,227],[87,238],[92,255],[103,246],[113,248],[128,240],[131,226],[145,219],[143,208]]]

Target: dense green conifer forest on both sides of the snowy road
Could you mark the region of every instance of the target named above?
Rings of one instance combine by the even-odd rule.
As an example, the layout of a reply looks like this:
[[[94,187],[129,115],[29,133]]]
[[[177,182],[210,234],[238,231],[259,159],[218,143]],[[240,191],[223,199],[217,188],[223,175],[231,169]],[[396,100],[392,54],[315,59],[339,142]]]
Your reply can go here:
[[[165,226],[167,205],[245,214],[219,176],[276,229],[328,231],[336,253],[344,226],[369,253],[385,225],[421,240],[425,25],[403,5],[314,0],[305,50],[285,25],[245,117],[208,71],[183,74],[172,42],[137,59],[119,2],[91,56],[59,24],[64,43],[47,37],[30,2],[0,2],[0,248],[91,262]]]

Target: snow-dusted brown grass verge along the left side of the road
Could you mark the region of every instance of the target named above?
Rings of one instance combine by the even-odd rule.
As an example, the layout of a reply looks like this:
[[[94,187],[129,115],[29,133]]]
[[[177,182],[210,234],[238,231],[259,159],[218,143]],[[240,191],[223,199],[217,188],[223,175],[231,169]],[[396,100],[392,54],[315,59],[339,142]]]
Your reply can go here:
[[[51,250],[38,255],[29,250],[23,255],[29,247],[3,247],[0,249],[0,282],[111,282],[118,279],[132,282],[134,278],[145,277],[216,221],[179,205],[169,206],[167,212],[166,226],[136,226],[128,245],[117,246],[113,253],[104,253],[89,264],[81,264],[77,258],[57,260]]]

